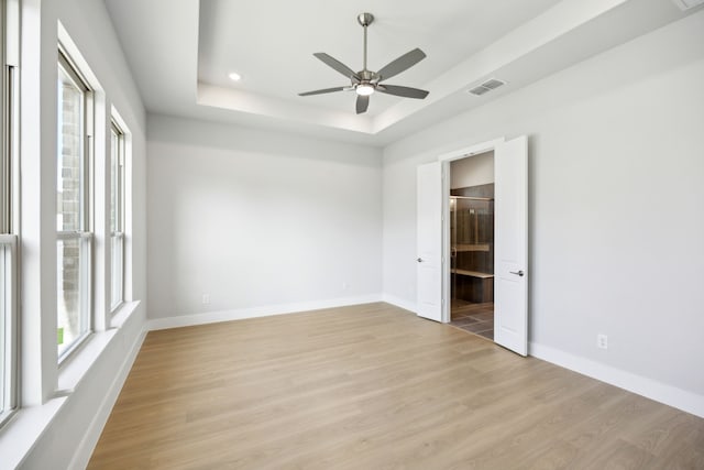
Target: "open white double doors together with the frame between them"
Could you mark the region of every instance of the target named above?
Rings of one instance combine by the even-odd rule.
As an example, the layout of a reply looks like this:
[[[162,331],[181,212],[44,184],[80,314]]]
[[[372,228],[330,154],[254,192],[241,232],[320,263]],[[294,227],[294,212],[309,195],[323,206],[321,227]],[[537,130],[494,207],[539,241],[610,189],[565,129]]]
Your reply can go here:
[[[416,314],[450,323],[450,164],[494,152],[494,342],[528,353],[528,139],[496,139],[416,168]]]

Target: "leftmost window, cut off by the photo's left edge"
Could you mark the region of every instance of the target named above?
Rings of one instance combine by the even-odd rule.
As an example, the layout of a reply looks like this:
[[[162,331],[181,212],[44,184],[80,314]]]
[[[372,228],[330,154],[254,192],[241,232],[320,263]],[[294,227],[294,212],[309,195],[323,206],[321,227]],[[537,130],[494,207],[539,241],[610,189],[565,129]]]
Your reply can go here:
[[[0,1],[0,425],[18,405],[18,238],[12,218],[16,164],[16,54],[8,44],[18,33],[19,20],[16,8],[8,7],[7,1]]]

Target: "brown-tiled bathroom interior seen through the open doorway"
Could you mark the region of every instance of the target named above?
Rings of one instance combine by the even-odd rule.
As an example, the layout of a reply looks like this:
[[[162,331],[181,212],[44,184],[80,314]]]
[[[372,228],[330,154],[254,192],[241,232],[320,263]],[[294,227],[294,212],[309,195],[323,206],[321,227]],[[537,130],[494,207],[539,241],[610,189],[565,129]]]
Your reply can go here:
[[[450,165],[450,325],[494,340],[494,152]]]

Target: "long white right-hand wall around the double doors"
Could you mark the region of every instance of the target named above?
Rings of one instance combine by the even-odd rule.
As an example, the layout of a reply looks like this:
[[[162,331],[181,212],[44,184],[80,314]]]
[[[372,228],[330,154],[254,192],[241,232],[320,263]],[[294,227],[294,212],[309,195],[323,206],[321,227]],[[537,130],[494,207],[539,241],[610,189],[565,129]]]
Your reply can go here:
[[[702,44],[698,12],[385,149],[384,293],[416,298],[416,165],[527,134],[531,351],[704,416]]]

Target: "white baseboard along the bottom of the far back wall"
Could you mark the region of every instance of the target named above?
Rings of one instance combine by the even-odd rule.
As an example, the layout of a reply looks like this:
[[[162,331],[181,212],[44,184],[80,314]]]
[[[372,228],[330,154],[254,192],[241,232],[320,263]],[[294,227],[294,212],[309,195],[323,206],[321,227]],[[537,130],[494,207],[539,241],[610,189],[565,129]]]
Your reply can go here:
[[[152,318],[150,330],[188,327],[215,324],[219,321],[242,320],[245,318],[268,317],[272,315],[295,314],[298,311],[319,310],[321,308],[344,307],[346,305],[382,302],[382,294],[370,294],[358,297],[340,297],[326,300],[301,302],[296,304],[266,305],[262,307],[238,308],[233,310],[207,311],[204,314],[180,315],[176,317]]]

